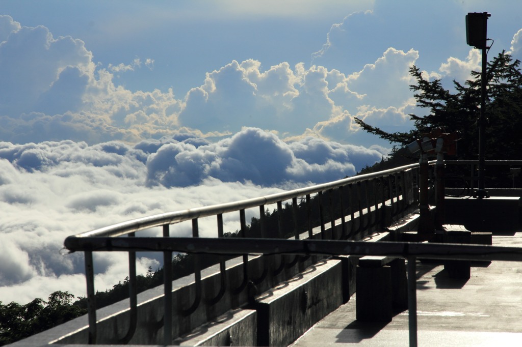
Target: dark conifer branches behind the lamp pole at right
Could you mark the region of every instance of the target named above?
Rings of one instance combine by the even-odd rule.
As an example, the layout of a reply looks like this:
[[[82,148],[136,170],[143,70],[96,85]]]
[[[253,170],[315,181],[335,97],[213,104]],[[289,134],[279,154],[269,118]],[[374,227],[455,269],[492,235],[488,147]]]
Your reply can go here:
[[[487,159],[519,159],[518,148],[522,137],[515,129],[522,129],[522,72],[520,61],[505,52],[494,57],[487,66],[487,90],[485,129]],[[472,79],[464,85],[454,81],[455,92],[443,88],[441,80],[427,81],[418,67],[410,68],[416,84],[414,92],[417,105],[429,110],[425,116],[410,115],[415,128],[410,132],[388,133],[355,119],[365,131],[400,145],[419,138],[422,133],[442,128],[446,132],[458,131],[460,159],[476,159],[478,154],[478,117],[480,115],[481,73],[472,71]]]

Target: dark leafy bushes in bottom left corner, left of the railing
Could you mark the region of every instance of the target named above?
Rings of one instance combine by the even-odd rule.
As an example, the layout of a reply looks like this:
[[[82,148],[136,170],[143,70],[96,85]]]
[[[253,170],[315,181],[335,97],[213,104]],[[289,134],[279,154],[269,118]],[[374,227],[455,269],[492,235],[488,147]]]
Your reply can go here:
[[[28,304],[0,302],[0,345],[5,345],[47,330],[81,316],[86,310],[72,304],[73,294],[56,291],[49,300],[38,298]]]

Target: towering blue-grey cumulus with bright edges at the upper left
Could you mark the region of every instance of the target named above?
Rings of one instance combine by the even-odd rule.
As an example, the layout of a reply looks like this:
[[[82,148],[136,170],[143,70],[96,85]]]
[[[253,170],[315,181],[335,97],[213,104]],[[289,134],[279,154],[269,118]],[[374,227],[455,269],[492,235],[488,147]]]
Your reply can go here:
[[[131,92],[113,83],[110,72],[141,66],[100,69],[85,43],[55,39],[45,27],[22,27],[1,16],[0,125],[4,140],[139,141],[161,137],[176,127],[182,101],[172,90]],[[153,59],[145,66],[152,68]]]

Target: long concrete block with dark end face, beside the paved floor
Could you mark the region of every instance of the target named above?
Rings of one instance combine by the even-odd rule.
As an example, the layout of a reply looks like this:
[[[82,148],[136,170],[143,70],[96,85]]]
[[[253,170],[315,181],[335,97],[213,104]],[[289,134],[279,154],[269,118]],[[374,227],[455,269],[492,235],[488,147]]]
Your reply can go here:
[[[342,304],[341,262],[311,266],[257,296],[257,345],[288,345]]]

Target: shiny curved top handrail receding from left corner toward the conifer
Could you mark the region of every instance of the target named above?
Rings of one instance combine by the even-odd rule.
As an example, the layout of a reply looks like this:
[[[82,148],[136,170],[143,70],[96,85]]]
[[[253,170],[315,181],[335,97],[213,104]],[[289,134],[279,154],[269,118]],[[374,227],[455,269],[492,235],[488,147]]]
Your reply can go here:
[[[322,184],[313,185],[311,187],[294,189],[286,192],[265,195],[254,197],[252,199],[246,199],[242,201],[217,204],[211,206],[197,207],[197,208],[189,208],[184,210],[179,210],[175,212],[167,212],[162,214],[157,214],[148,217],[142,217],[137,219],[132,219],[124,222],[120,222],[111,226],[102,227],[99,229],[94,229],[87,232],[82,232],[73,236],[69,236],[65,239],[64,245],[69,250],[74,252],[76,238],[88,238],[88,237],[117,237],[122,236],[124,234],[128,234],[131,232],[136,232],[139,230],[144,230],[152,227],[160,227],[166,224],[175,224],[178,222],[191,220],[200,217],[208,217],[215,216],[222,213],[234,212],[240,209],[247,209],[252,207],[257,207],[260,205],[267,205],[277,203],[278,201],[290,200],[294,196],[305,196],[309,194],[314,194],[322,191],[326,191],[329,189],[334,189],[341,187],[342,185],[346,185],[349,183],[357,183],[367,179],[372,179],[376,177],[393,175],[396,172],[404,171],[411,168],[418,167],[419,164],[410,164],[401,166],[398,168],[393,168],[384,171],[366,173],[364,175],[353,176],[349,178],[344,178],[341,180],[327,182]]]

